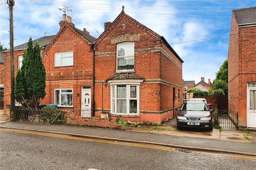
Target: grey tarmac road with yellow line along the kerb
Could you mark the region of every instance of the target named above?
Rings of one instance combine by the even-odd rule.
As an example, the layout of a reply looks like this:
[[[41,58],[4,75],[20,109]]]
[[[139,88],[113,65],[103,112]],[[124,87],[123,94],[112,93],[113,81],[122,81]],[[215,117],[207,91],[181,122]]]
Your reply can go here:
[[[26,131],[0,131],[0,169],[255,169],[256,159]]]

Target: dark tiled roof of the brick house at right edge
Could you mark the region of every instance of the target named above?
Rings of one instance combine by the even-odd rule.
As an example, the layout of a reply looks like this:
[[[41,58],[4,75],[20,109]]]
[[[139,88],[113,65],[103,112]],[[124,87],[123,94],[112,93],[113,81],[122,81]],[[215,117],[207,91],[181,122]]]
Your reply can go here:
[[[238,25],[256,24],[256,6],[233,10]]]

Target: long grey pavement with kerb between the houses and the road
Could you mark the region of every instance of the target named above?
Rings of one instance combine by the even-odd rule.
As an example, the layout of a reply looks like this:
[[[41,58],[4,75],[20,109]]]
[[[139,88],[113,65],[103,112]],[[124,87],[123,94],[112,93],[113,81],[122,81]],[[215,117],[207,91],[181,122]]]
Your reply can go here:
[[[77,137],[138,142],[175,148],[187,148],[191,150],[214,151],[224,152],[228,154],[256,156],[256,143],[191,138],[167,134],[122,131],[105,128],[89,128],[70,125],[47,125],[27,122],[5,122],[0,124],[0,128],[51,132],[68,134]]]

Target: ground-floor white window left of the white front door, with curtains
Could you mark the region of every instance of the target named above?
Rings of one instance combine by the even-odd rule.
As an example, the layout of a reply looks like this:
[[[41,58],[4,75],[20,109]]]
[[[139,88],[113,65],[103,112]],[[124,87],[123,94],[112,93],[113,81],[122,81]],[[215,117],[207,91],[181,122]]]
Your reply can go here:
[[[73,89],[55,89],[54,104],[58,106],[73,106]]]

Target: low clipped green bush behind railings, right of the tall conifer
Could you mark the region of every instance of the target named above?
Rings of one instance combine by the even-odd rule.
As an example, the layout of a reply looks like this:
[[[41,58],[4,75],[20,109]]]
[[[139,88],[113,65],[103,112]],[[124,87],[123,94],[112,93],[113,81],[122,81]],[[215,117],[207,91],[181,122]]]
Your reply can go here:
[[[65,112],[53,106],[44,106],[41,110],[41,117],[47,123],[60,124],[66,122]]]

